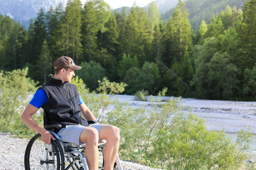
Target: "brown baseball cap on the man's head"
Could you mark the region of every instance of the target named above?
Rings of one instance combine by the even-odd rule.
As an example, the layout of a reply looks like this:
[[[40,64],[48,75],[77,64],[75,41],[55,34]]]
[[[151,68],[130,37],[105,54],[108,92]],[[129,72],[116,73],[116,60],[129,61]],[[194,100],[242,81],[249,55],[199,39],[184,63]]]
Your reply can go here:
[[[80,70],[82,67],[77,66],[72,58],[67,56],[61,56],[60,58],[56,59],[53,63],[54,69],[62,69],[65,67],[70,67],[75,70]]]

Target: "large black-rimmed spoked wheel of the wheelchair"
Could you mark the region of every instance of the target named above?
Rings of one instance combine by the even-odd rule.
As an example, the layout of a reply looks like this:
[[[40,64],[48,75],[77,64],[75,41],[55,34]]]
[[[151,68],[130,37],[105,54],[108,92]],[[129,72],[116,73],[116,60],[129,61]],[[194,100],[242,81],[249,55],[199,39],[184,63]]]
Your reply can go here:
[[[61,166],[59,148],[56,141],[51,139],[52,145],[46,145],[42,141],[41,134],[36,134],[30,142],[28,142],[24,155],[24,164],[26,170],[32,169],[64,169]],[[64,166],[65,167],[65,166]]]

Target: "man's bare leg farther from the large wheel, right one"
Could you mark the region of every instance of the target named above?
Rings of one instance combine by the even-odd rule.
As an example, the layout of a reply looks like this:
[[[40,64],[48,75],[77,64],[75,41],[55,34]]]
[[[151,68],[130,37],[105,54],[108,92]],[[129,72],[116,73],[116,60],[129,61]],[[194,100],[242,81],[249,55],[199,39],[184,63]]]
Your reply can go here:
[[[112,125],[102,126],[100,130],[100,139],[107,140],[104,149],[104,170],[111,170],[114,167],[119,148],[119,129]]]

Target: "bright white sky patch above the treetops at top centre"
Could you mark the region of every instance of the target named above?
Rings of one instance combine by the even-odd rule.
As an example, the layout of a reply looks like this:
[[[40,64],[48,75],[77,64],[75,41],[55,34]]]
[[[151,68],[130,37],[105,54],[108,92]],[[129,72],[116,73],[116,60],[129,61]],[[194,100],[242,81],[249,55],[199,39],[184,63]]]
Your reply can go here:
[[[140,7],[148,5],[154,0],[104,0],[112,9],[119,8],[122,6],[132,7],[134,2]]]

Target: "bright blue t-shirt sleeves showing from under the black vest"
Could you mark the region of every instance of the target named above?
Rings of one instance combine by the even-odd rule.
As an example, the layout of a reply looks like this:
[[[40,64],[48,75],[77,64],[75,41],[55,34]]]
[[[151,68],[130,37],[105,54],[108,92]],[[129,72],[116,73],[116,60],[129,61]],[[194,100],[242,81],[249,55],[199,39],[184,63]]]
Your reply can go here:
[[[80,104],[84,103],[80,95],[79,95],[79,99],[80,99]],[[39,90],[35,92],[35,95],[33,99],[30,101],[30,104],[34,105],[34,107],[40,108],[42,107],[42,105],[46,104],[47,101],[48,101],[48,97],[46,92],[42,88],[39,88]]]

